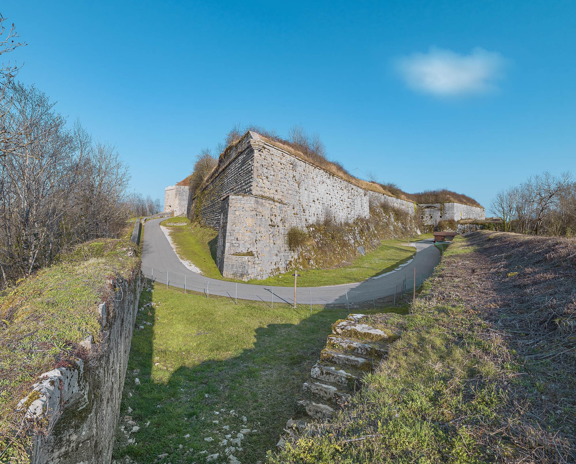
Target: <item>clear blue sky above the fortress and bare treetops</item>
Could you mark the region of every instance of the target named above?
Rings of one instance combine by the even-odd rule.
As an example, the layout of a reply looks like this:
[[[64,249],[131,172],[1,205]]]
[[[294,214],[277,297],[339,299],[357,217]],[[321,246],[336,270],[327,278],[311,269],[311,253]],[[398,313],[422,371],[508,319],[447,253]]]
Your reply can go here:
[[[321,134],[408,192],[488,207],[576,174],[574,2],[7,2],[18,78],[115,143],[164,200],[234,123]],[[361,173],[362,175],[362,173]]]

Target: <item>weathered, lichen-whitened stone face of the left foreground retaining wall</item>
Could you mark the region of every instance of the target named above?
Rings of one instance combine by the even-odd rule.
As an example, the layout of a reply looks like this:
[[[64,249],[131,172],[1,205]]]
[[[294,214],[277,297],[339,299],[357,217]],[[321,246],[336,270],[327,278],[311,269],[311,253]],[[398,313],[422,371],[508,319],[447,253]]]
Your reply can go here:
[[[29,404],[27,420],[51,424],[49,435],[35,440],[33,464],[111,462],[141,291],[139,267],[130,279],[109,280],[108,285],[118,290],[112,302],[99,306],[103,340],[97,345],[91,339],[82,343],[89,361],[77,359],[74,366],[40,375],[31,394],[20,402],[20,407]]]

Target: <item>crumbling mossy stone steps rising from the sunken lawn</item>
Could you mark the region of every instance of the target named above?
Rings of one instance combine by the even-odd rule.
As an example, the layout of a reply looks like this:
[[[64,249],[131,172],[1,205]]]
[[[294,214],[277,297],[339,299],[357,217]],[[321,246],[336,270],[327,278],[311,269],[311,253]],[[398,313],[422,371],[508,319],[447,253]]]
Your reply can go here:
[[[372,372],[388,354],[388,346],[398,334],[366,324],[363,317],[350,314],[332,324],[326,348],[310,370],[310,379],[304,382],[305,399],[298,401],[303,413],[287,421],[288,435],[280,439],[278,447],[283,447],[286,439],[297,438],[307,421],[330,420],[360,387],[362,376]]]

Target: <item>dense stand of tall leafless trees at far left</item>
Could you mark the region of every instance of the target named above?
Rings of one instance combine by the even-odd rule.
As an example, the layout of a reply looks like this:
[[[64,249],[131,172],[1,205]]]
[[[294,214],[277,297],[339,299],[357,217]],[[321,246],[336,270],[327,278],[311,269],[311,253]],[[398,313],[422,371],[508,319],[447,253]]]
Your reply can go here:
[[[58,252],[114,237],[126,217],[130,174],[115,147],[54,111],[34,86],[11,82],[0,142],[0,286],[31,275]]]

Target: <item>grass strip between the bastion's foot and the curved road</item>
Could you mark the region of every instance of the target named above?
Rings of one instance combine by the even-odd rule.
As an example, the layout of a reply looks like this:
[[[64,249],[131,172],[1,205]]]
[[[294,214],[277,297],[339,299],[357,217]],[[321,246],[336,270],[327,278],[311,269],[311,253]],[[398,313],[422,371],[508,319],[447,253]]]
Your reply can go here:
[[[186,222],[185,218],[169,218],[161,222],[161,225],[169,222]],[[186,226],[169,227],[170,236],[176,245],[181,257],[194,263],[207,277],[224,279],[216,267],[216,240],[218,233],[212,229],[205,229],[197,224]],[[416,249],[408,246],[408,241],[386,240],[382,241],[376,250],[360,256],[350,266],[334,269],[310,269],[298,271],[298,286],[319,287],[324,285],[338,285],[361,282],[368,277],[380,275],[392,271],[398,265],[406,263],[412,258]],[[250,280],[251,284],[273,285],[276,287],[291,287],[294,285],[293,271],[283,273],[265,280]]]

